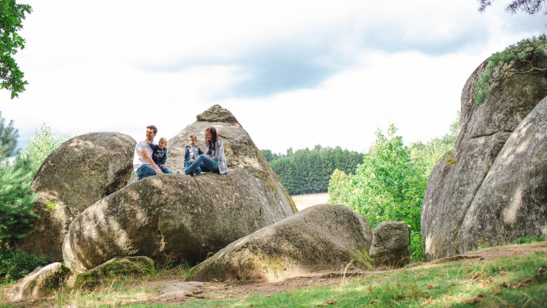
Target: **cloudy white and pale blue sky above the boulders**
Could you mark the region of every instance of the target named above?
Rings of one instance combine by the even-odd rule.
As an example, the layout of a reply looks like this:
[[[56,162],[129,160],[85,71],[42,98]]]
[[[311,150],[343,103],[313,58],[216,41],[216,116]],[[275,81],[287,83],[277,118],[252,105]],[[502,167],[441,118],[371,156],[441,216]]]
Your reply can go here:
[[[480,62],[547,32],[501,0],[483,14],[476,0],[18,2],[34,10],[16,55],[29,85],[0,91],[0,111],[23,147],[41,123],[170,139],[213,104],[276,153],[365,151],[389,123],[427,141]]]

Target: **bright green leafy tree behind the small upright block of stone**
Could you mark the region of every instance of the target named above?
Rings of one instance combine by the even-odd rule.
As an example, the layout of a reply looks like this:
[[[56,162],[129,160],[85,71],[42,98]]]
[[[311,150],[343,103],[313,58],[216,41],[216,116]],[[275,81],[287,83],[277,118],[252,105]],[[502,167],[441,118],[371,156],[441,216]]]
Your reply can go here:
[[[332,176],[330,202],[353,209],[372,228],[382,221],[404,221],[412,230],[412,256],[421,260],[420,215],[428,172],[423,163],[412,160],[410,148],[403,144],[403,137],[395,136],[396,130],[391,125],[387,136],[376,132],[374,146],[348,180]]]

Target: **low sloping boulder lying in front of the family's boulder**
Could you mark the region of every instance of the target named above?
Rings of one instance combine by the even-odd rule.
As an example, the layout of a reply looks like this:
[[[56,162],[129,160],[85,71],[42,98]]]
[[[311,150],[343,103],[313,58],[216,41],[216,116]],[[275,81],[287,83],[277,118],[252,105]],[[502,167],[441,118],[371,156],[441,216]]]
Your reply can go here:
[[[339,205],[309,207],[229,244],[193,269],[189,279],[278,281],[349,262],[369,268],[370,224]]]

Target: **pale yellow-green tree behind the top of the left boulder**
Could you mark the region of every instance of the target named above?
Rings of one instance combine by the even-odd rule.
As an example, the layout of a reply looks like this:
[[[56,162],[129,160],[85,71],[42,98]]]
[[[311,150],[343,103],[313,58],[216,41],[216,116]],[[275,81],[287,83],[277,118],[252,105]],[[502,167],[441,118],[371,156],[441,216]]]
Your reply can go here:
[[[36,127],[34,137],[27,139],[27,149],[21,153],[21,156],[32,162],[32,169],[36,174],[43,161],[48,158],[55,148],[58,148],[71,137],[71,134],[55,137],[51,132],[51,128],[46,123],[42,123],[39,127]]]

